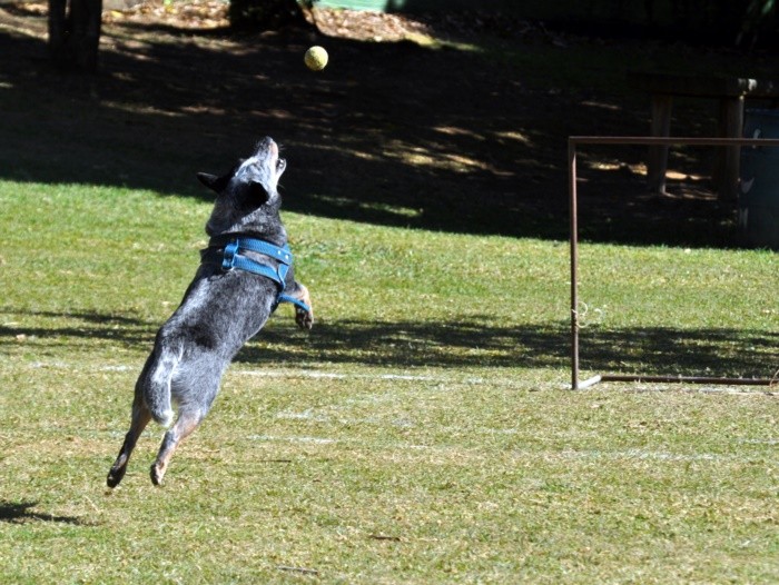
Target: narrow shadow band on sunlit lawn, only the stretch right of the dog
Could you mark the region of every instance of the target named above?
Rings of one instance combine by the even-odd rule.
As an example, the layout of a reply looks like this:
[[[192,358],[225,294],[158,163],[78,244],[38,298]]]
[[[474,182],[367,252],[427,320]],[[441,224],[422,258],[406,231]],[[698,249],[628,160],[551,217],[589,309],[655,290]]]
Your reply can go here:
[[[292,338],[292,340],[290,340]],[[771,377],[779,334],[737,329],[629,327],[581,336],[581,367],[596,371]],[[307,337],[273,327],[238,354],[241,363],[366,364],[389,368],[495,367],[562,369],[571,364],[568,324],[496,327],[452,323],[318,324]]]

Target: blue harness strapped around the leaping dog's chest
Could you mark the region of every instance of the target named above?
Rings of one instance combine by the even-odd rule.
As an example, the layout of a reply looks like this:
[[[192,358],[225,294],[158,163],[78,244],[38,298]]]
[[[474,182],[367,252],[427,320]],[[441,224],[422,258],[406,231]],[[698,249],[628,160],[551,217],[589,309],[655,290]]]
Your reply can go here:
[[[208,241],[208,248],[200,250],[200,258],[204,262],[218,264],[223,270],[245,270],[255,275],[264,276],[276,282],[279,287],[278,297],[274,310],[279,303],[292,303],[306,313],[310,313],[310,307],[295,297],[284,294],[286,287],[285,279],[289,267],[293,264],[292,250],[288,245],[283,248],[274,246],[269,241],[243,236],[217,236]],[[241,251],[255,251],[274,258],[278,266],[260,264],[240,254]]]

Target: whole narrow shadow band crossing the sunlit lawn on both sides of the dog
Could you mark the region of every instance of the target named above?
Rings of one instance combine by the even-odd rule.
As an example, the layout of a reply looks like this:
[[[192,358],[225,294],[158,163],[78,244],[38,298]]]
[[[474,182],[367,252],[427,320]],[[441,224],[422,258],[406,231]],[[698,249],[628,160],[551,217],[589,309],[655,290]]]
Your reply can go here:
[[[19,311],[0,315],[20,318]],[[34,313],[51,325],[0,327],[0,350],[24,336],[28,351],[63,356],[106,345],[150,350],[160,323],[99,313]],[[493,317],[453,321],[319,320],[300,333],[280,315],[249,340],[236,361],[258,367],[318,364],[443,368],[565,369],[571,363],[566,323],[494,325]],[[55,349],[56,348],[56,349]],[[625,327],[583,329],[582,369],[600,373],[772,377],[779,369],[779,333],[733,328]],[[140,366],[140,364],[139,364]]]

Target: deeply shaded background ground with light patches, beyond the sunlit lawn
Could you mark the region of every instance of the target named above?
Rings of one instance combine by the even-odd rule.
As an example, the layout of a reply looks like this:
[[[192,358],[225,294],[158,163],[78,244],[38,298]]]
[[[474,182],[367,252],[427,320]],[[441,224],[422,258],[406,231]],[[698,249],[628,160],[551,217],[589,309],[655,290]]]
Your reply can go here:
[[[0,176],[209,197],[195,172],[226,170],[270,135],[289,162],[287,209],[564,239],[566,137],[648,132],[631,71],[773,72],[770,50],[734,48],[732,36],[679,39],[673,22],[686,21],[668,19],[696,2],[651,2],[651,19],[644,2],[554,14],[541,2],[460,3],[318,9],[315,27],[240,34],[218,2],[109,10],[96,76],[50,66],[45,4],[4,4]],[[302,63],[313,43],[329,51],[321,73]],[[713,136],[717,113],[713,100],[678,100],[672,133]],[[585,239],[733,245],[736,209],[710,190],[710,149],[672,152],[672,197],[647,192],[644,159],[639,147],[582,153]]]

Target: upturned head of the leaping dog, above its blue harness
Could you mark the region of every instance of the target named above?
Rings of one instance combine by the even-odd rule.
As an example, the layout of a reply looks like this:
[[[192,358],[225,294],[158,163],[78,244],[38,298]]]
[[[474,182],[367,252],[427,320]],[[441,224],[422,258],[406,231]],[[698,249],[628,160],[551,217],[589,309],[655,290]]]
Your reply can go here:
[[[243,231],[264,234],[275,228],[282,205],[276,188],[286,167],[286,160],[278,156],[278,146],[266,137],[249,158],[227,175],[198,172],[200,182],[217,194],[206,231],[211,236]]]

